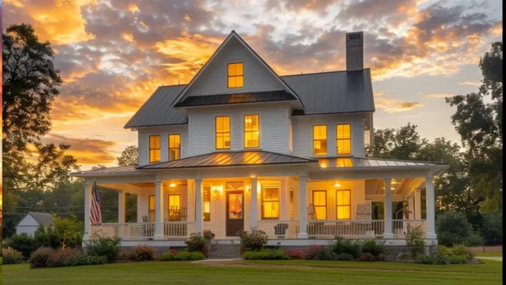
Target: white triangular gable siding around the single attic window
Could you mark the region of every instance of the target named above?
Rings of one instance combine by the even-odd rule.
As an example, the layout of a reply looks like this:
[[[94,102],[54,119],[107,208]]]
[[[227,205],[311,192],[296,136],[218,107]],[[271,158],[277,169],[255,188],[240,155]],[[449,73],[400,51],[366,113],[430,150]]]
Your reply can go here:
[[[228,88],[227,64],[244,63],[244,87]],[[207,65],[186,96],[284,90],[284,86],[235,38]]]

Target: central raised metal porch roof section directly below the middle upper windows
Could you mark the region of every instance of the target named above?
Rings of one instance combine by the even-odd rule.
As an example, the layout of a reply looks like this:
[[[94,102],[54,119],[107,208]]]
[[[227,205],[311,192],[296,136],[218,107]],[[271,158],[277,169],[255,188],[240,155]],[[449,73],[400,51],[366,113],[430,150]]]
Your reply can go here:
[[[139,166],[138,170],[163,168],[202,168],[215,166],[266,165],[289,163],[316,163],[311,158],[302,158],[287,154],[266,151],[212,152],[181,158],[177,161],[165,161]]]

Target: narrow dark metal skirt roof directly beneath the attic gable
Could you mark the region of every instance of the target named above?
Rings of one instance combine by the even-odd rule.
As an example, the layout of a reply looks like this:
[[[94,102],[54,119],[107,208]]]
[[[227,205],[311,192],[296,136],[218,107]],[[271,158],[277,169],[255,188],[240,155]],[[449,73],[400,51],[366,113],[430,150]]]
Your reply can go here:
[[[267,91],[267,92],[250,92],[235,94],[219,94],[219,95],[202,95],[186,97],[183,101],[174,105],[177,107],[190,106],[207,106],[207,105],[223,105],[223,104],[241,104],[267,101],[288,101],[297,100],[286,90]]]

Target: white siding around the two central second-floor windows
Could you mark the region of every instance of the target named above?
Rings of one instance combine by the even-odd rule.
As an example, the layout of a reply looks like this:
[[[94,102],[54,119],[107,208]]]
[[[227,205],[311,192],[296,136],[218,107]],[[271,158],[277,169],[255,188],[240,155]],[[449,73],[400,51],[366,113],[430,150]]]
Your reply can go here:
[[[288,153],[288,104],[220,106],[188,111],[190,156],[215,152],[215,117],[230,116],[231,150],[244,149],[244,115],[258,114],[260,149]]]

